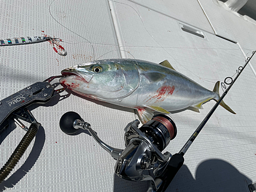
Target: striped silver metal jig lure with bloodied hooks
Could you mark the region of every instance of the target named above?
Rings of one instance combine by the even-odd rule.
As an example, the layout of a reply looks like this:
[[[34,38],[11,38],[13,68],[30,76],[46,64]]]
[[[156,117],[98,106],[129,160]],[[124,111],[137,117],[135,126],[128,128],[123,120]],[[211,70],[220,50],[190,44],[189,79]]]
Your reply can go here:
[[[35,44],[37,42],[45,42],[45,41],[50,41],[50,43],[53,46],[53,50],[59,55],[61,56],[67,55],[67,51],[62,46],[56,43],[60,41],[59,38],[52,38],[52,37],[35,36],[35,37],[15,37],[15,38],[0,39],[0,46]]]

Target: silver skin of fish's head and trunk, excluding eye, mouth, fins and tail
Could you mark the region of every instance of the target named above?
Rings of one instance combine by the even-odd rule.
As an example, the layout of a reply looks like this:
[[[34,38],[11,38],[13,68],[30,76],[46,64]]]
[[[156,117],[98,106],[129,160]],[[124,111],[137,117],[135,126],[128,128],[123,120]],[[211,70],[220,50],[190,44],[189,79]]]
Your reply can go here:
[[[92,73],[89,67],[91,65],[101,65],[105,71]],[[128,108],[142,109],[153,106],[166,111],[176,111],[208,99],[219,99],[217,93],[203,88],[175,70],[153,62],[137,59],[106,59],[85,63],[82,66],[82,70],[74,67],[70,69],[81,76],[93,74],[93,78],[88,83],[87,89],[76,87],[74,90]],[[118,91],[117,87],[120,88]]]

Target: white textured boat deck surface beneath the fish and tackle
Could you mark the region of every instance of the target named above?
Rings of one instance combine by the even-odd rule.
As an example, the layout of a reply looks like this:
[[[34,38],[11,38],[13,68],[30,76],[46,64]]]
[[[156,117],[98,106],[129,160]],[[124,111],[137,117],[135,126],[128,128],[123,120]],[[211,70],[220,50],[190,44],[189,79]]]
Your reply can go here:
[[[212,1],[2,0],[1,4],[1,39],[58,37],[68,55],[56,54],[49,42],[0,47],[0,99],[59,75],[67,67],[104,58],[156,63],[167,59],[177,71],[212,90],[216,81],[236,73],[244,65],[245,55],[256,49],[256,23]],[[256,182],[253,67],[256,69],[256,56],[224,99],[237,115],[219,106],[166,191],[241,192],[249,191],[247,185]],[[145,191],[145,183],[115,176],[115,160],[88,134],[69,136],[59,129],[61,115],[75,111],[103,141],[124,148],[123,129],[135,119],[134,110],[70,93],[62,93],[66,97],[60,101],[56,97],[43,106],[30,107],[42,127],[0,190]],[[207,102],[200,113],[187,110],[170,115],[178,134],[164,152],[178,153],[214,104]],[[0,136],[1,166],[24,134],[13,123]]]

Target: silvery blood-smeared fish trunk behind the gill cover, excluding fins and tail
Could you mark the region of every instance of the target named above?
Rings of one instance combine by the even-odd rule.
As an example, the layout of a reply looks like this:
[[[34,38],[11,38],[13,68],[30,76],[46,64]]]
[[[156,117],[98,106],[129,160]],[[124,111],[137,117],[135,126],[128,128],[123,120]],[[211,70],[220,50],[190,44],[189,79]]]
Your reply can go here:
[[[131,107],[133,103],[142,108],[146,105],[153,105],[160,106],[167,111],[176,111],[210,98],[217,100],[219,98],[217,93],[203,88],[195,81],[167,67],[142,60],[126,59],[125,61],[126,65],[129,65],[131,61],[136,61],[140,73],[138,89],[121,101],[122,105],[127,107]],[[158,74],[164,77],[152,80],[152,77]],[[136,103],[135,100],[137,100]]]

